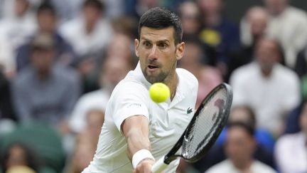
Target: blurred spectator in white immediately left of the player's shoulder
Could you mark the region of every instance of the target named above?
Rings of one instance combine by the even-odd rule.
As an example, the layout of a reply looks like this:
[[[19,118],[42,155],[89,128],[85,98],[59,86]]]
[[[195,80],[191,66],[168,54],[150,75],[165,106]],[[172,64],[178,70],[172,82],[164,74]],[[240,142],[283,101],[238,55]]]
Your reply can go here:
[[[72,111],[70,118],[72,132],[81,132],[85,128],[85,115],[89,110],[98,109],[104,112],[112,90],[129,70],[131,70],[131,65],[124,58],[116,56],[107,58],[100,73],[101,88],[82,95]]]

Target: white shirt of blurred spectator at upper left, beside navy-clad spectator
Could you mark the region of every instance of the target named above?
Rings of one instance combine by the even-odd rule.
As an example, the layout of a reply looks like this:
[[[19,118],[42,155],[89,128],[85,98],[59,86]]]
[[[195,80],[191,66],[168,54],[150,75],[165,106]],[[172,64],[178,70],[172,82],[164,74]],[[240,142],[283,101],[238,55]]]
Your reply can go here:
[[[64,23],[60,27],[62,36],[72,45],[78,56],[101,53],[112,39],[112,26],[106,19],[101,19],[92,33],[86,33],[85,21],[80,17]]]

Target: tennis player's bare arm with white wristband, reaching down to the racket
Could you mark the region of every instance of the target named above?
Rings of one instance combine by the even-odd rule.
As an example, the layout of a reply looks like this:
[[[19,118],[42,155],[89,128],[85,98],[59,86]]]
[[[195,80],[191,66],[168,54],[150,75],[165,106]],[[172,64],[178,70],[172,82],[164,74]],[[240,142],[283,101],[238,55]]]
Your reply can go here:
[[[143,115],[128,117],[122,123],[121,128],[128,144],[128,157],[135,164],[134,172],[150,173],[154,158],[149,153],[151,145],[148,118]]]

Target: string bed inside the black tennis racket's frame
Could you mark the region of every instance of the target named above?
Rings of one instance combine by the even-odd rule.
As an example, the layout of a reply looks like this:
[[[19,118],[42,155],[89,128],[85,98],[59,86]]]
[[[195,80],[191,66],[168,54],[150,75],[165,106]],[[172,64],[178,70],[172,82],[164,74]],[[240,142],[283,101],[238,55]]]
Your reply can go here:
[[[222,121],[221,114],[226,97],[227,90],[223,88],[203,103],[203,108],[186,135],[183,154],[187,159],[195,157],[201,152],[215,135],[216,128],[219,127],[217,124]]]

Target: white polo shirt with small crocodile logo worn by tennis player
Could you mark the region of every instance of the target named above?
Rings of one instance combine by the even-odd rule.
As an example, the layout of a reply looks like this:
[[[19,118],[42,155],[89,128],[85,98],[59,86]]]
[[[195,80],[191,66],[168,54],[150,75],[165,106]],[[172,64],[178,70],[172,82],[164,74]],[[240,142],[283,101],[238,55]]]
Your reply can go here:
[[[102,132],[99,135],[97,151],[87,172],[133,172],[128,159],[127,144],[120,127],[122,122],[133,115],[144,115],[149,119],[149,140],[155,159],[167,154],[181,137],[193,117],[190,108],[195,108],[198,80],[182,68],[177,68],[179,77],[176,95],[171,101],[154,103],[149,97],[149,83],[138,64],[124,80],[114,88],[107,110]],[[166,172],[175,172],[179,160],[172,162]]]

